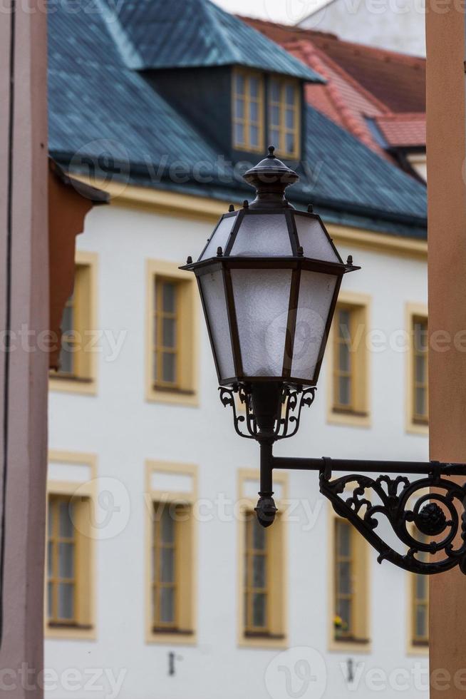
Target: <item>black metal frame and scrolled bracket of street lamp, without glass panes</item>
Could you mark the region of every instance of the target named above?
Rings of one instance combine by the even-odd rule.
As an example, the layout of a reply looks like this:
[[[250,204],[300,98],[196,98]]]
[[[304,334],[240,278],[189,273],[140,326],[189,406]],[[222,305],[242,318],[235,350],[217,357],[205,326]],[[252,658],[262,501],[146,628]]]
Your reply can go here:
[[[437,461],[371,461],[352,459],[296,459],[277,457],[273,454],[274,443],[280,439],[293,437],[299,429],[301,409],[310,407],[316,394],[316,382],[326,347],[333,312],[335,310],[343,275],[358,270],[353,265],[351,255],[343,263],[326,232],[320,218],[309,212],[304,215],[316,218],[328,243],[336,252],[338,262],[325,262],[304,256],[294,221],[293,207],[285,198],[286,187],[295,183],[299,176],[274,156],[274,148],[255,168],[248,170],[244,178],[257,190],[257,198],[249,204],[244,202],[242,211],[230,212],[222,217],[236,217],[232,224],[224,250],[217,249],[217,257],[198,262],[188,257],[183,270],[195,272],[200,286],[200,295],[207,322],[207,330],[219,377],[220,399],[222,404],[232,407],[234,429],[247,439],[256,439],[261,450],[260,491],[257,503],[257,517],[262,526],[270,526],[276,515],[273,492],[274,469],[294,471],[319,471],[320,491],[333,506],[336,513],[347,519],[364,538],[378,551],[378,561],[385,559],[406,571],[431,575],[442,573],[459,566],[466,574],[466,484],[460,486],[449,476],[466,476],[466,464],[444,464]],[[291,245],[288,257],[236,257],[231,256],[232,246],[242,221],[249,215],[285,215]],[[217,229],[216,229],[217,230]],[[215,233],[215,231],[214,231]],[[209,241],[207,241],[207,245]],[[207,248],[204,248],[204,251]],[[275,377],[247,377],[242,366],[242,351],[239,344],[238,319],[232,291],[232,270],[291,270],[291,289],[286,323],[286,342],[281,374]],[[318,361],[312,377],[291,375],[296,331],[296,308],[298,306],[299,280],[301,272],[322,272],[335,278],[335,289],[328,310],[326,328],[323,333]],[[209,272],[221,272],[224,285],[224,298],[227,306],[229,335],[232,346],[234,377],[222,376],[213,340],[211,322],[202,294],[202,277]],[[235,394],[244,405],[244,414],[237,412]],[[333,477],[335,472],[343,476]],[[366,474],[380,474],[368,476]],[[413,482],[410,476],[420,476]],[[348,486],[351,491],[348,493]],[[430,491],[430,489],[434,489]],[[426,492],[428,490],[428,492]],[[378,496],[373,504],[369,494]],[[415,504],[412,505],[413,501]],[[461,516],[458,514],[461,512]],[[395,551],[376,532],[379,517],[388,519],[395,535],[404,544],[407,552],[403,555]],[[416,539],[414,529],[420,532]],[[426,542],[425,537],[430,541]],[[425,554],[433,560],[425,561]],[[443,556],[442,556],[443,554]]]

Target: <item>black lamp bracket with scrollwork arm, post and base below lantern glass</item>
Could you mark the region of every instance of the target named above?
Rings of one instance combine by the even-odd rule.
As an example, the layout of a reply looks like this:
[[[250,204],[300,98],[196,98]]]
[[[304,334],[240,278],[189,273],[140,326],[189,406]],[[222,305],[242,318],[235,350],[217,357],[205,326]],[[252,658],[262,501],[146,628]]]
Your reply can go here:
[[[256,512],[262,526],[270,526],[277,511],[273,497],[274,469],[318,471],[321,494],[331,502],[336,514],[351,522],[378,551],[379,563],[387,560],[405,571],[425,575],[460,566],[466,574],[466,484],[460,486],[448,480],[449,476],[466,476],[466,464],[274,456],[274,442],[296,434],[301,409],[314,402],[316,388],[301,389],[279,383],[237,384],[232,389],[221,387],[219,391],[222,404],[233,409],[237,433],[256,439],[260,445],[260,491]],[[244,404],[244,415],[237,412],[235,394]],[[345,475],[333,477],[338,471]],[[383,475],[366,475],[380,473]],[[411,482],[408,474],[420,478]],[[348,486],[351,486],[349,492]],[[430,492],[430,489],[435,491]],[[377,504],[368,497],[371,491],[378,496]],[[380,516],[388,519],[396,536],[406,546],[405,555],[395,551],[376,533]],[[413,525],[423,535],[421,540],[413,536]],[[425,537],[433,540],[427,543]],[[417,557],[423,553],[435,555],[435,560],[424,561]],[[441,553],[444,554],[442,558]]]

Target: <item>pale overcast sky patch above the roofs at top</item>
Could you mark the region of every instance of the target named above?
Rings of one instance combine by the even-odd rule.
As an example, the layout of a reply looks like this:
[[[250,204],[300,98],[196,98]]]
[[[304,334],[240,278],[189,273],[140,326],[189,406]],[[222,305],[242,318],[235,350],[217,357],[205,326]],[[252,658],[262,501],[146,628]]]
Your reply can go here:
[[[214,0],[214,3],[234,14],[297,24],[323,4],[323,0]]]

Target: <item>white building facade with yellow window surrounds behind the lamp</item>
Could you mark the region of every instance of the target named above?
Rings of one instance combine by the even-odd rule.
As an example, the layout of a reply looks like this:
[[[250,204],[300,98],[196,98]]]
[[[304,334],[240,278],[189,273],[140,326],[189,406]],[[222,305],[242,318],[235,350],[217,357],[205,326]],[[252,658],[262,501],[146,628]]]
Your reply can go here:
[[[412,623],[412,576],[389,563],[379,566],[376,553],[361,554],[357,543],[351,585],[358,638],[338,638],[335,518],[315,473],[277,479],[282,514],[267,530],[275,532],[267,563],[274,609],[267,613],[276,614],[276,632],[269,638],[245,633],[247,551],[239,513],[254,506],[259,450],[234,434],[232,415],[219,402],[196,297],[192,392],[164,399],[151,395],[147,382],[157,270],[167,280],[190,277],[177,265],[202,249],[214,218],[212,206],[193,216],[176,202],[162,211],[150,197],[145,205],[116,200],[88,215],[78,239],[78,265],[91,272],[81,312],[89,312],[87,304],[98,349],[88,382],[51,379],[49,492],[77,492],[81,502],[96,504],[90,516],[72,515],[88,539],[86,546],[76,544],[81,579],[75,584],[85,598],[76,604],[83,616],[76,628],[46,628],[46,667],[58,678],[46,695],[87,695],[83,682],[94,668],[95,685],[102,685],[95,696],[213,699],[220,690],[232,699],[285,699],[311,681],[311,668],[316,687],[325,682],[326,689],[309,696],[349,696],[357,688],[358,696],[370,697],[380,687],[387,697],[398,697],[402,688],[410,698],[427,696],[426,648],[416,645]],[[342,257],[352,253],[362,267],[343,280],[341,302],[363,313],[354,378],[366,394],[353,414],[334,411],[329,347],[316,401],[304,412],[298,436],[276,453],[427,459],[427,428],[415,424],[406,407],[413,315],[425,314],[427,303],[425,246],[363,234],[356,240],[354,233],[351,240],[351,231],[338,226],[330,232]],[[190,598],[183,612],[189,633],[151,631],[152,501],[185,502],[190,509],[189,550],[180,563],[189,578],[182,593]],[[277,578],[279,589],[271,590]],[[177,584],[184,583],[179,578]],[[81,680],[70,680],[70,668]]]

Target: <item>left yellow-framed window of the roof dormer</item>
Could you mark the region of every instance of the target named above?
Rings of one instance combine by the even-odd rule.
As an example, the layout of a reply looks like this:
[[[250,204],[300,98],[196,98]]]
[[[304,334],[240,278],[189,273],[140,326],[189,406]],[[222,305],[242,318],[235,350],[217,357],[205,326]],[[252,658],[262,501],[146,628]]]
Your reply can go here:
[[[259,73],[233,73],[233,144],[239,150],[264,150],[264,79]]]

